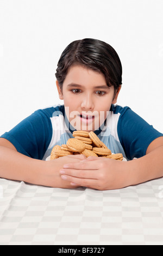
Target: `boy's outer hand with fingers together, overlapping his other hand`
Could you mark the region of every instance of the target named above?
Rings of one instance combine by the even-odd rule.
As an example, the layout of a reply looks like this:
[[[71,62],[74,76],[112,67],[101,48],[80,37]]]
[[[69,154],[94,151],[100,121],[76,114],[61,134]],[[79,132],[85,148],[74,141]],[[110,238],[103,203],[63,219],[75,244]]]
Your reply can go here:
[[[88,157],[87,159],[65,164],[60,170],[62,180],[69,181],[71,186],[91,187],[97,190],[111,190],[126,186],[127,174],[121,172],[126,162]]]

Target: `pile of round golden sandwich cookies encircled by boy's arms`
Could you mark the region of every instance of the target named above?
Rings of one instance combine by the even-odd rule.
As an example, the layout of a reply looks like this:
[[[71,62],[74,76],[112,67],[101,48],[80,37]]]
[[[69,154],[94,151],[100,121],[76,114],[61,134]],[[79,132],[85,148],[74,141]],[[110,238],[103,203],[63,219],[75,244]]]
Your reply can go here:
[[[111,150],[97,137],[95,132],[74,131],[67,144],[55,145],[51,152],[51,160],[62,156],[83,154],[86,157],[97,156],[123,160],[122,154],[112,154]]]

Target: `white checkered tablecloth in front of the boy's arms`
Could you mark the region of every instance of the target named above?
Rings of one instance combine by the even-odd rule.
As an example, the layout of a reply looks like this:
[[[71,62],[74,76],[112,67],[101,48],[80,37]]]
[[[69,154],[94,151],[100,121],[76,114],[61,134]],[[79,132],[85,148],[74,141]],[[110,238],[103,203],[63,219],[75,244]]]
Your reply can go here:
[[[163,245],[163,178],[112,191],[0,179],[0,245]]]

